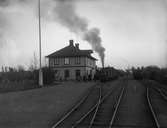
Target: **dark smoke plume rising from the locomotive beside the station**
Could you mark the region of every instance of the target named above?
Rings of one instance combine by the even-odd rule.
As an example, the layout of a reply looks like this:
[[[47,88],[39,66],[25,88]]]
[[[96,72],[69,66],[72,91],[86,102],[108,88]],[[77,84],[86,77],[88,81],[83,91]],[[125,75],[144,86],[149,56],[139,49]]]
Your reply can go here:
[[[100,30],[98,28],[88,29],[85,18],[76,13],[74,0],[55,0],[54,18],[61,25],[67,27],[71,32],[78,34],[83,40],[91,44],[93,50],[98,53],[102,67],[104,67],[105,48],[102,46]]]

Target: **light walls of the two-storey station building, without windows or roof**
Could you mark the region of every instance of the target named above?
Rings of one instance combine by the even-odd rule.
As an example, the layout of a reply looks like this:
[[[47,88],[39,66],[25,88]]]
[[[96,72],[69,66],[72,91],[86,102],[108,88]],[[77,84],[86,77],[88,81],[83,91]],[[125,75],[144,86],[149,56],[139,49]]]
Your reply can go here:
[[[70,57],[70,64],[64,64],[64,58],[59,58],[59,64],[54,63],[55,58],[49,59],[49,66],[55,70],[55,78],[57,80],[64,80],[64,71],[70,71],[70,77],[67,80],[75,80],[76,79],[76,70],[80,70],[80,75],[88,76],[91,74],[92,78],[95,74],[96,62],[93,59],[88,57],[80,57],[80,64],[75,63],[75,57]]]

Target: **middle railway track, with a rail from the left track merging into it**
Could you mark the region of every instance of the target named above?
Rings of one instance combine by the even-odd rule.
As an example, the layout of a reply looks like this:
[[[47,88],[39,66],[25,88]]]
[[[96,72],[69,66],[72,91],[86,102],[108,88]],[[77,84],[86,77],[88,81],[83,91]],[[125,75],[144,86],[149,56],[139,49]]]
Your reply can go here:
[[[120,86],[117,90],[108,92],[95,107],[75,122],[73,128],[109,128],[113,123],[124,90],[125,86]]]

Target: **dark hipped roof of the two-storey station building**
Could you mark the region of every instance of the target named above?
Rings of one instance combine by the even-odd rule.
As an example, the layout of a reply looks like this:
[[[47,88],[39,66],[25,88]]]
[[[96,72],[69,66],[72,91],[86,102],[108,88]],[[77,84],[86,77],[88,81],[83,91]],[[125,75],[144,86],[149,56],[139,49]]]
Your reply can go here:
[[[49,54],[46,57],[54,58],[54,57],[76,57],[76,56],[86,56],[91,59],[97,60],[96,58],[91,56],[91,53],[93,53],[92,50],[80,50],[79,47],[76,47],[72,44],[68,45],[67,47],[64,47],[54,53]]]

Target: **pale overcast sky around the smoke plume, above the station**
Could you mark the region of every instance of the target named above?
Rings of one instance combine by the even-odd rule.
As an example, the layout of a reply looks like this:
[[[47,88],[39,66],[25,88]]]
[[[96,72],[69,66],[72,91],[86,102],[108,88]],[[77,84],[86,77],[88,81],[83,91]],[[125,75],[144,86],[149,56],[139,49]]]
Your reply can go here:
[[[67,46],[69,39],[79,43],[80,49],[91,49],[88,42],[53,18],[55,1],[41,3],[42,55]],[[167,65],[166,0],[77,0],[74,3],[76,13],[87,20],[88,27],[100,30],[106,66]],[[34,52],[39,53],[37,1],[0,0],[0,66],[29,66]],[[101,66],[98,54],[93,56]]]

